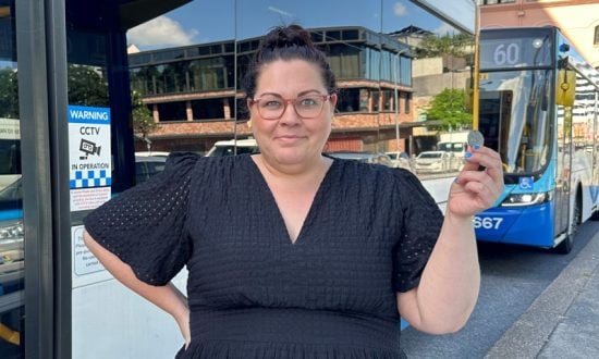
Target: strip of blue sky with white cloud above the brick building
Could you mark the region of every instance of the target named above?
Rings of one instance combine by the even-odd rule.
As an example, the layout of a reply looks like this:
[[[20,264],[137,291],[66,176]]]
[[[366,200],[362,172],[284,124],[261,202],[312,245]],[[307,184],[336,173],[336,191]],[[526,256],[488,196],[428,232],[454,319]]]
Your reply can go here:
[[[127,42],[144,51],[246,39],[290,23],[364,26],[383,33],[409,25],[437,34],[455,32],[408,0],[193,0],[130,29]]]

